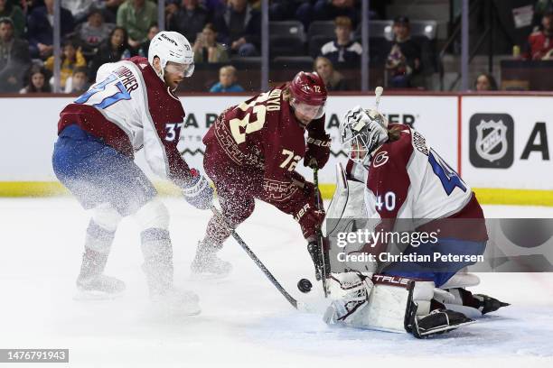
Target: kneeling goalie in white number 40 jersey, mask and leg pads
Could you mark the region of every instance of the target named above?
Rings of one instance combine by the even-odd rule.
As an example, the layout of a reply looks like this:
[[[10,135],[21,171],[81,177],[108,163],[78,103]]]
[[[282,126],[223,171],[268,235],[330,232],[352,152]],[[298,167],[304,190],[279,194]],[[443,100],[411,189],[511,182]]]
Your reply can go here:
[[[377,101],[380,94],[381,88]],[[488,237],[482,208],[422,134],[408,125],[388,124],[377,109],[356,106],[344,116],[341,138],[350,161],[347,172],[338,175],[342,184],[327,218],[344,212],[351,218],[363,216],[373,219],[370,230],[381,234],[393,233],[402,219],[417,232],[437,230],[436,242],[408,244],[402,256],[483,254]],[[349,208],[336,210],[344,192]],[[478,283],[475,275],[463,271],[473,264],[470,257],[460,262],[383,261],[380,255],[389,252],[390,244],[381,240],[350,251],[372,254],[375,261],[332,273],[328,323],[405,329],[421,337],[472,323],[464,313],[475,317],[507,305],[464,289]]]

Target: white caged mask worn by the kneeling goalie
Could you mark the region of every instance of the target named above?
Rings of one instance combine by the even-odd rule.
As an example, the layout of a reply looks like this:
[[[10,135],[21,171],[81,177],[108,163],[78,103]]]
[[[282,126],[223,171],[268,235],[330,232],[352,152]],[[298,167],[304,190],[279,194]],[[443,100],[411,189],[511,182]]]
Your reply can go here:
[[[343,117],[340,138],[351,161],[368,165],[370,153],[388,140],[388,120],[377,110],[355,106]]]

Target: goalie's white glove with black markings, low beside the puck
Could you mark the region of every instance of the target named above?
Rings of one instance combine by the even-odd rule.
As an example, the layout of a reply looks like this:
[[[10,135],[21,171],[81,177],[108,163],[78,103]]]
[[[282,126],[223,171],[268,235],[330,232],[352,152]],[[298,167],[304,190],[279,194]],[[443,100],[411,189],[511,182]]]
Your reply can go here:
[[[333,302],[324,312],[324,322],[348,323],[353,319],[369,301],[371,277],[368,272],[331,273],[328,288]]]

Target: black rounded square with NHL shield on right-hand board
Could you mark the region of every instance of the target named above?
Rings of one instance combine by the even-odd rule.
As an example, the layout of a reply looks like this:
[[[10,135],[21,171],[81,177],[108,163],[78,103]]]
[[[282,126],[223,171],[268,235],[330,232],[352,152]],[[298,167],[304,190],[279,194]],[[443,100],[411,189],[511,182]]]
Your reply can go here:
[[[511,115],[474,114],[469,125],[469,153],[473,166],[509,168],[514,159],[514,123]]]

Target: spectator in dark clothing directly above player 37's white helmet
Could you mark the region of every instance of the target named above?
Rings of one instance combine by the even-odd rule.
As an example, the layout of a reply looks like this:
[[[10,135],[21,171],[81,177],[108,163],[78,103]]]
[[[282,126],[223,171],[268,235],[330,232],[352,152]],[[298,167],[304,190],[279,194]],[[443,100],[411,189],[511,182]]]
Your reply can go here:
[[[170,17],[169,31],[182,33],[190,43],[196,41],[196,35],[202,32],[203,26],[210,20],[208,11],[198,5],[198,0],[183,0],[183,4]]]

